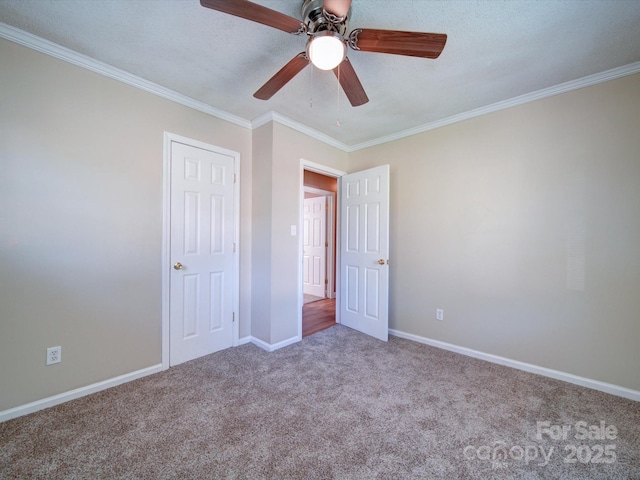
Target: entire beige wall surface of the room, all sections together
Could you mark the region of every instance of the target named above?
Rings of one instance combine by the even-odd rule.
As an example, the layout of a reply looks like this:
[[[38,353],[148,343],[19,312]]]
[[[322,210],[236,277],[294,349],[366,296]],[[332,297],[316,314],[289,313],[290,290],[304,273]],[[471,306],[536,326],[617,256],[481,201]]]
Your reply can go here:
[[[638,75],[347,154],[0,58],[0,411],[160,363],[164,131],[241,154],[241,337],[298,333],[300,159],[389,163],[392,328],[640,390]]]

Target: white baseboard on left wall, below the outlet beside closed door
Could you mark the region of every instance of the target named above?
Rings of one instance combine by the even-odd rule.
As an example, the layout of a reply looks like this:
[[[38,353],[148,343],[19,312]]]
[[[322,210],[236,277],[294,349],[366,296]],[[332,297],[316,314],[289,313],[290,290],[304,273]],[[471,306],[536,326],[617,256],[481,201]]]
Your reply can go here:
[[[64,402],[68,402],[69,400],[84,397],[91,393],[106,390],[107,388],[115,387],[116,385],[120,385],[122,383],[146,377],[147,375],[158,373],[162,370],[162,364],[153,365],[151,367],[143,368],[142,370],[136,370],[135,372],[120,375],[119,377],[114,377],[108,380],[103,380],[102,382],[93,383],[91,385],[87,385],[86,387],[76,388],[75,390],[59,393],[58,395],[53,395],[52,397],[43,398],[42,400],[36,400],[35,402],[20,405],[8,410],[3,410],[0,412],[0,423],[11,420],[12,418],[21,417],[22,415],[37,412],[38,410],[42,410],[44,408],[53,407]]]

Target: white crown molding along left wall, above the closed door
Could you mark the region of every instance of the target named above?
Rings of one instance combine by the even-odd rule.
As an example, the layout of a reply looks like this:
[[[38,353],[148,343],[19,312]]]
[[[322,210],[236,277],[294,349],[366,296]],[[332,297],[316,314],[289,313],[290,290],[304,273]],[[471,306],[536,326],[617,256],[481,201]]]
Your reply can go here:
[[[81,53],[74,52],[66,47],[12,27],[6,23],[0,22],[0,37],[46,55],[64,60],[65,62],[69,62],[78,67],[86,68],[87,70],[104,75],[105,77],[126,83],[132,87],[144,90],[145,92],[179,103],[185,107],[192,108],[244,128],[251,128],[251,122],[249,120],[232,115],[224,110],[212,107],[211,105],[207,105],[206,103],[195,100],[169,88],[161,87],[156,83],[137,77],[125,72],[124,70],[112,67],[111,65],[107,65],[106,63],[102,63]]]

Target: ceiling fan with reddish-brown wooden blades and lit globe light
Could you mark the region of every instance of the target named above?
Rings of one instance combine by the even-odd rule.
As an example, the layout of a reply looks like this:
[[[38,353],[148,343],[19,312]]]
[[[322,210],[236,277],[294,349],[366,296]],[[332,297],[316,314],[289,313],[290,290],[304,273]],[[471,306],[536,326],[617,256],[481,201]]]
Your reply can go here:
[[[351,0],[303,0],[304,20],[296,20],[247,0],[200,0],[200,4],[287,33],[309,37],[306,50],[293,57],[253,94],[260,100],[270,99],[311,62],[322,70],[333,70],[349,102],[357,107],[367,103],[369,98],[347,57],[347,46],[363,52],[438,58],[447,41],[447,35],[443,33],[371,28],[356,28],[347,36]]]

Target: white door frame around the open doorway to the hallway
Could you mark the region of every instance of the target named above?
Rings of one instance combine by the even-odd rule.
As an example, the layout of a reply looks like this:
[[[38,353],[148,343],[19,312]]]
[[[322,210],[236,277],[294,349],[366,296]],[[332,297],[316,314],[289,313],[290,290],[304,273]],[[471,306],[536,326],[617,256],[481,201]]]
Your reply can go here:
[[[304,209],[302,208],[304,204],[304,171],[309,170],[311,172],[319,173],[321,175],[325,175],[327,177],[340,178],[343,175],[346,175],[347,172],[342,170],[338,170],[337,168],[328,167],[326,165],[322,165],[320,163],[312,162],[310,160],[305,160],[304,158],[300,159],[300,195],[298,200],[298,231],[303,232],[304,228]],[[340,190],[340,182],[338,182],[338,195],[337,202],[340,203],[341,190]],[[302,265],[302,254],[304,251],[303,246],[303,237],[302,235],[298,235],[298,340],[302,340],[302,306],[304,304],[304,292],[302,287],[302,278],[303,278],[303,265]],[[336,212],[336,271],[340,271],[340,212]],[[336,323],[340,323],[340,276],[336,275]]]

